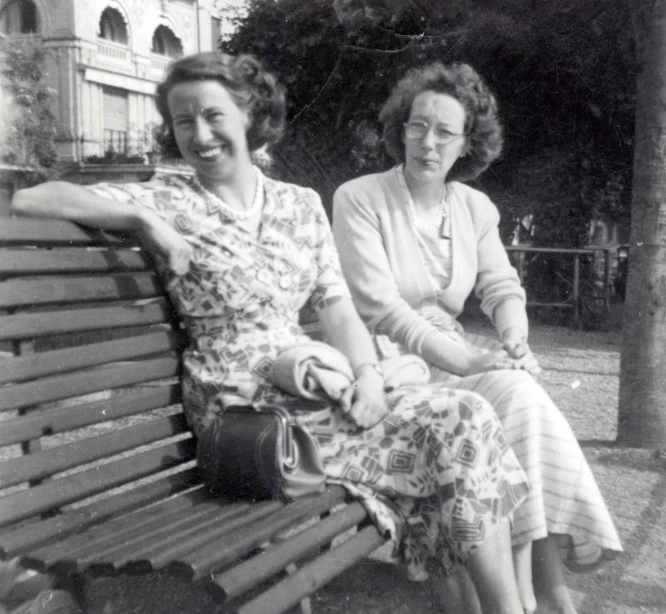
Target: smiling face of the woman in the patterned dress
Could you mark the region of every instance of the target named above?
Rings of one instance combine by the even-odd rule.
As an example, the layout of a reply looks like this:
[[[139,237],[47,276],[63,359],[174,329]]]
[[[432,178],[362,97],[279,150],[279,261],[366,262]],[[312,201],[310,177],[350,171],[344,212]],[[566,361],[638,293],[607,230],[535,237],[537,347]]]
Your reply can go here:
[[[228,181],[250,160],[248,113],[218,81],[179,83],[167,98],[176,144],[202,180]]]

